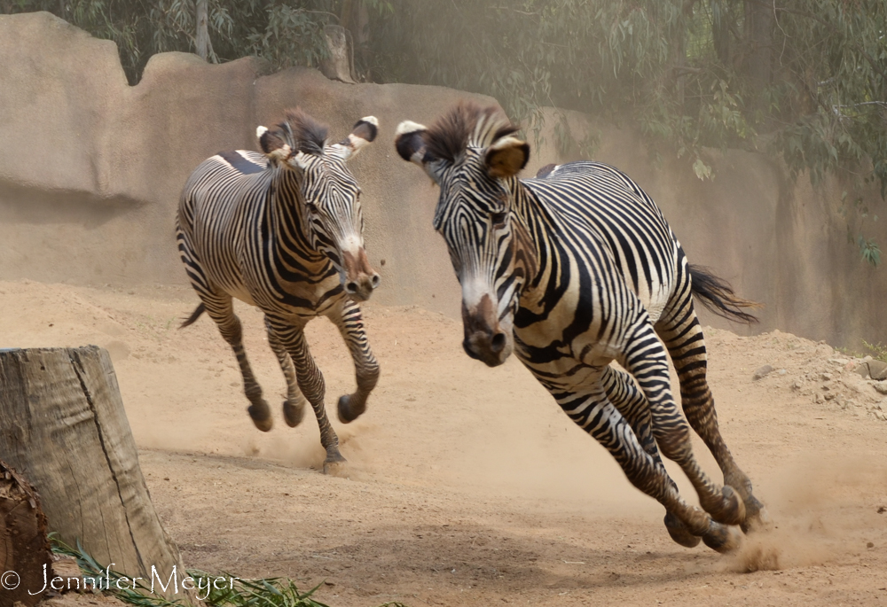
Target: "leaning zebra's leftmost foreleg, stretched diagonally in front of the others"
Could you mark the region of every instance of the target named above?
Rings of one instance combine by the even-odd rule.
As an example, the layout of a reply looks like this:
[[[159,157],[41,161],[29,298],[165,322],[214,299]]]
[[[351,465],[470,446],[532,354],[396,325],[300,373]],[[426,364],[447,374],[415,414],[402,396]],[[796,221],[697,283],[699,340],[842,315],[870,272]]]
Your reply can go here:
[[[665,468],[641,447],[627,420],[608,400],[600,379],[593,385],[592,393],[554,395],[570,419],[613,455],[632,485],[673,512],[689,533],[702,537],[707,546],[719,552],[739,546],[738,531],[712,520],[703,510],[681,499]]]

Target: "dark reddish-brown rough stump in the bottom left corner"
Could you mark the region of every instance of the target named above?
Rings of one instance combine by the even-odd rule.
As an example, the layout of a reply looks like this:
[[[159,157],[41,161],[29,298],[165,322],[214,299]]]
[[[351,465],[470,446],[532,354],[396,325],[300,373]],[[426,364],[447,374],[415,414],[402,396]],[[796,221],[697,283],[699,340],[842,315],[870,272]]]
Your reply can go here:
[[[0,607],[31,607],[43,599],[43,568],[51,564],[40,497],[0,462]]]

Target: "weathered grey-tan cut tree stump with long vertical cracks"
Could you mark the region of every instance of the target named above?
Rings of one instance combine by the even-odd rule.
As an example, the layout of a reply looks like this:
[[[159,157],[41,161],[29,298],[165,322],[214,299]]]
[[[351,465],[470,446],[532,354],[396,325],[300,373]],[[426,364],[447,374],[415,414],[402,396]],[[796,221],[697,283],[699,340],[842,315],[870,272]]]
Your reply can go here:
[[[186,575],[154,511],[103,348],[0,350],[0,459],[34,483],[49,529],[68,545],[79,540],[99,564],[142,583]],[[176,589],[160,594],[193,598]]]

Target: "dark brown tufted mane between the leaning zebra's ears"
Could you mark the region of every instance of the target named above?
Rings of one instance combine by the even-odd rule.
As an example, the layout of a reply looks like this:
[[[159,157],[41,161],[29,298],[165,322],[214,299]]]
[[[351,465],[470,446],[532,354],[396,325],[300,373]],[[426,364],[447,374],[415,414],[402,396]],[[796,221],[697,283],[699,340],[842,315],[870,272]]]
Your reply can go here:
[[[496,105],[481,107],[460,101],[422,135],[428,154],[455,162],[468,147],[489,147],[500,137],[519,130]]]

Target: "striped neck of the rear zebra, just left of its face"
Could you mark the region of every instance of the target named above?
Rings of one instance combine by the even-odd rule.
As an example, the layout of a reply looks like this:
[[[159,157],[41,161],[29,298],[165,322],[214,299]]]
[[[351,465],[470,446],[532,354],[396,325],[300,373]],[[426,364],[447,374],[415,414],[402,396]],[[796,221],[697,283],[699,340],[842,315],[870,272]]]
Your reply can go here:
[[[305,270],[319,271],[329,263],[326,255],[311,244],[310,222],[305,213],[302,177],[294,171],[277,169],[271,178],[267,214],[268,238],[273,239],[276,257],[299,259]]]

